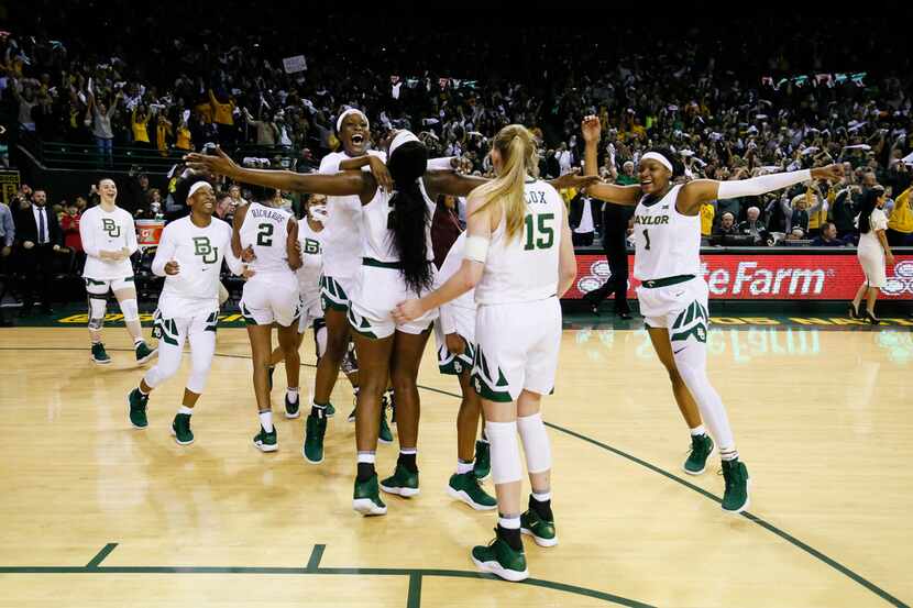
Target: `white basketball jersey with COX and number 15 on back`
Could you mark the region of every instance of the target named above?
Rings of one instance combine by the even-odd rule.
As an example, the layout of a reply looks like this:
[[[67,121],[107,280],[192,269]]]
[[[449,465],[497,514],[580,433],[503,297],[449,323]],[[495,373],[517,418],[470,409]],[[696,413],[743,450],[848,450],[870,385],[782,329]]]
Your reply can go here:
[[[482,280],[475,287],[480,305],[529,302],[556,295],[564,202],[541,180],[527,180],[526,219],[519,234],[507,240],[506,218],[492,234]]]

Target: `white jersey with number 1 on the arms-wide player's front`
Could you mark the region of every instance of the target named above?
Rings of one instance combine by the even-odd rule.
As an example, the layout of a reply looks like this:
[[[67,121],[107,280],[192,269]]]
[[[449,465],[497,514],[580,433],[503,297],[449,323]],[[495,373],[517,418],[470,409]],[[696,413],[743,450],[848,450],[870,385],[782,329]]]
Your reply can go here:
[[[634,212],[634,276],[638,280],[701,274],[701,215],[682,215],[675,209],[681,186],[660,200]]]

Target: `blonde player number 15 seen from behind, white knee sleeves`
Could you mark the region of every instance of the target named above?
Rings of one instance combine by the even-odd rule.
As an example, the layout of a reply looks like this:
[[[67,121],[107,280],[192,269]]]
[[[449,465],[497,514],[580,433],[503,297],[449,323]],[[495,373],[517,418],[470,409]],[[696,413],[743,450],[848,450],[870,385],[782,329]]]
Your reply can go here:
[[[536,179],[538,155],[522,125],[502,129],[492,143],[494,181],[469,197],[468,239],[460,270],[439,289],[403,302],[397,319],[420,318],[475,286],[473,385],[482,397],[492,445],[498,524],[494,542],[475,546],[483,572],[508,581],[529,576],[521,533],[557,544],[551,511],[551,449],[540,414],[554,386],[561,343],[559,298],[576,274],[568,213],[558,191]],[[522,464],[532,494],[520,513]]]

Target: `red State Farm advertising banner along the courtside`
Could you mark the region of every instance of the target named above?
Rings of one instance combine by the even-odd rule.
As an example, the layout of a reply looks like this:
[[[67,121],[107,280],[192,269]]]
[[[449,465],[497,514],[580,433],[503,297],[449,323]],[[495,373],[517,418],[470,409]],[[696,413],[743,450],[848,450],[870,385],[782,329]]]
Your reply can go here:
[[[602,255],[578,255],[578,277],[568,299],[600,287],[612,275]],[[895,255],[880,298],[913,300],[913,255]],[[851,300],[864,280],[856,251],[837,255],[702,255],[704,280],[716,300]],[[634,255],[628,256],[634,274]],[[628,298],[636,298],[634,277]]]

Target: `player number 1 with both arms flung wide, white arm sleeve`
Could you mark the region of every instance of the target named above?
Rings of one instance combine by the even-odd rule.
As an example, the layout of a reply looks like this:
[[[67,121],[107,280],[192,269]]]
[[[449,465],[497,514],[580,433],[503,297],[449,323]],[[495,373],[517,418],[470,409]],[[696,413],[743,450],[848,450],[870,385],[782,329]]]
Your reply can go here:
[[[585,169],[594,174],[600,120],[586,117],[582,130]],[[596,198],[637,207],[634,276],[641,283],[637,298],[653,349],[669,373],[675,401],[691,430],[692,450],[682,466],[685,473],[700,475],[718,445],[726,483],[725,511],[737,513],[748,508],[748,469],[739,462],[726,409],[707,378],[710,316],[708,290],[701,272],[701,204],[759,196],[810,179],[839,179],[842,173],[842,165],[831,165],[738,181],[696,179],[675,186],[672,180],[682,174],[681,163],[668,150],[656,150],[640,158],[639,186],[598,184],[588,190]]]

